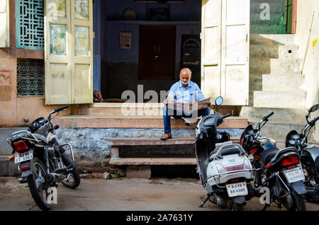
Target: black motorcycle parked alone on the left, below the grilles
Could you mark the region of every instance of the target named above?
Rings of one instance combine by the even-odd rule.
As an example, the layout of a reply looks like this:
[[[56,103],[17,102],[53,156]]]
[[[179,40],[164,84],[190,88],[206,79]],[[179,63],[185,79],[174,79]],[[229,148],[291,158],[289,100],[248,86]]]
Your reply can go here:
[[[68,105],[53,110],[45,120],[33,121],[28,130],[14,132],[7,139],[13,151],[11,161],[18,164],[21,171],[20,183],[28,183],[35,203],[43,210],[49,210],[54,201],[52,187],[62,183],[67,188],[77,188],[80,184],[79,171],[74,166],[74,154],[70,144],[58,144],[51,116],[68,108]],[[69,149],[72,159],[67,155]]]

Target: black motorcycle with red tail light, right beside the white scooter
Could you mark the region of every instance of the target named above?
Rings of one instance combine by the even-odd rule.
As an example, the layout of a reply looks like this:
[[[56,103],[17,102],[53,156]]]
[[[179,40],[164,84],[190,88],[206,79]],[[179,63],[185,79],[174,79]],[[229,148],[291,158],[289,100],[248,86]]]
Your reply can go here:
[[[273,112],[262,117],[256,129],[253,129],[252,125],[247,126],[240,137],[241,146],[252,156],[255,170],[254,188],[269,190],[269,201],[265,202],[263,210],[275,202],[279,208],[284,205],[289,211],[306,211],[303,200],[303,195],[306,194],[303,184],[305,176],[297,149],[279,149],[274,139],[259,134],[272,115]]]

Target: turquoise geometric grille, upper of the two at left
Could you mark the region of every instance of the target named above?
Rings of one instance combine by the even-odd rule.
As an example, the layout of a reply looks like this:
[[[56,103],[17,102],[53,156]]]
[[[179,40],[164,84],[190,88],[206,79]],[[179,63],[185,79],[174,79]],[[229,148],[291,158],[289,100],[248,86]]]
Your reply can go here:
[[[16,47],[44,48],[44,0],[16,0]]]

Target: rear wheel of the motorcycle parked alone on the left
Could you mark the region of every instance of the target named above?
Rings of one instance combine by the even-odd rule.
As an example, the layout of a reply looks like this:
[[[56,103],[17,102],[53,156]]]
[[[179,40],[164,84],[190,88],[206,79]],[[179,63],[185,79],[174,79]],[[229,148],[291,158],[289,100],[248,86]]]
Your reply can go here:
[[[45,166],[39,158],[33,158],[32,174],[28,176],[28,186],[35,203],[43,210],[50,210],[52,203],[47,203],[47,188],[50,188],[50,183],[45,182]]]

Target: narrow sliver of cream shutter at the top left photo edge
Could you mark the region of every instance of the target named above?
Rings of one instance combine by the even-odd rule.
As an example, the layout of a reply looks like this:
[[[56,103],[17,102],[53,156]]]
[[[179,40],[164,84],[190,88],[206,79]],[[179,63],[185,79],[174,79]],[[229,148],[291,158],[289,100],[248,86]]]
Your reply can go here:
[[[0,0],[0,47],[9,47],[9,0]]]

